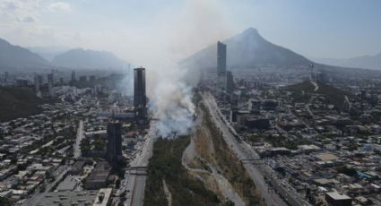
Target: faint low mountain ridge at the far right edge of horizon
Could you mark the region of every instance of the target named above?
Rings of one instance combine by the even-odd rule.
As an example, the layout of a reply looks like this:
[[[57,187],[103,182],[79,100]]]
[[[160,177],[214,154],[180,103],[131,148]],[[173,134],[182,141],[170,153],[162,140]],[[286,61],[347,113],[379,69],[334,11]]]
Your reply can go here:
[[[351,58],[315,58],[318,63],[337,66],[381,70],[381,53],[375,56],[357,56]]]

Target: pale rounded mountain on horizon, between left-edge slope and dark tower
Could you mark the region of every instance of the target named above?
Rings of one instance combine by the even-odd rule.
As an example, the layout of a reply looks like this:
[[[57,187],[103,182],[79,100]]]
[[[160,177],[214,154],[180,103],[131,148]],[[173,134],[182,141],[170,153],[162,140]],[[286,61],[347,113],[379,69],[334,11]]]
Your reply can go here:
[[[62,67],[89,69],[120,68],[126,64],[112,53],[82,48],[66,51],[64,54],[54,57],[51,63]]]

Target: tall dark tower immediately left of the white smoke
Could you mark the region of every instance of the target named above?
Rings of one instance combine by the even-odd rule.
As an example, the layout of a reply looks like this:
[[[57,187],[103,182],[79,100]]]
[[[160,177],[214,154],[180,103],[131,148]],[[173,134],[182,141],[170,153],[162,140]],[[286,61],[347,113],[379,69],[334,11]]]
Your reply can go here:
[[[145,69],[134,69],[134,110],[135,116],[143,119],[146,116],[147,97],[145,95]]]

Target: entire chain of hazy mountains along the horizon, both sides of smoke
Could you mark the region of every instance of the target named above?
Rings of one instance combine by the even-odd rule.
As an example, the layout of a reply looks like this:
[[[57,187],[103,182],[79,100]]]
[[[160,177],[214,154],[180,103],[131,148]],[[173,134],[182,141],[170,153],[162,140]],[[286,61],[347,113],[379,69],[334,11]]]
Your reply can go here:
[[[314,61],[316,68],[326,70],[337,66],[369,68],[381,70],[381,54],[359,56],[350,59],[313,59],[311,61],[288,48],[277,46],[264,39],[258,30],[249,28],[223,41],[228,46],[227,64],[229,69],[250,69],[262,66],[281,68],[307,68]],[[30,50],[13,46],[0,39],[0,69],[2,68],[120,68],[126,62],[106,51],[85,50],[67,47],[29,47]],[[34,52],[34,53],[33,53]],[[35,54],[36,53],[36,54]],[[204,69],[216,67],[217,46],[205,47],[181,61],[186,68]],[[41,57],[44,56],[45,58]],[[333,64],[329,66],[324,64]],[[347,68],[339,68],[347,69]]]

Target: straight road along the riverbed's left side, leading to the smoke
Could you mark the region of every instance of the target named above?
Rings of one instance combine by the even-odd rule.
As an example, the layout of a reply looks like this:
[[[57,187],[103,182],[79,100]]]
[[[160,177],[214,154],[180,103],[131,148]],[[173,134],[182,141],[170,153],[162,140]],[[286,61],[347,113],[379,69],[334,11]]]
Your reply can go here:
[[[153,142],[156,139],[157,128],[152,122],[150,130],[144,137],[141,152],[136,154],[135,159],[130,163],[130,167],[147,167],[149,159],[152,157]],[[139,149],[138,149],[139,150]],[[126,172],[126,204],[127,206],[142,206],[144,200],[145,169],[128,170]]]

